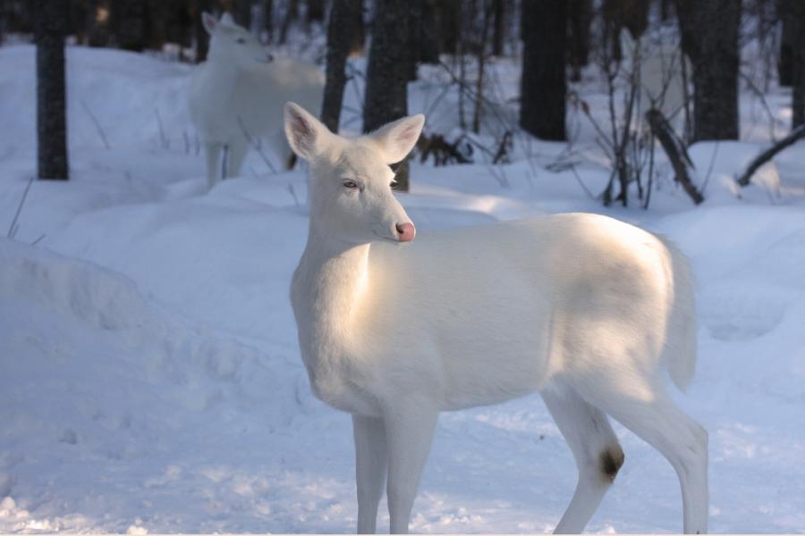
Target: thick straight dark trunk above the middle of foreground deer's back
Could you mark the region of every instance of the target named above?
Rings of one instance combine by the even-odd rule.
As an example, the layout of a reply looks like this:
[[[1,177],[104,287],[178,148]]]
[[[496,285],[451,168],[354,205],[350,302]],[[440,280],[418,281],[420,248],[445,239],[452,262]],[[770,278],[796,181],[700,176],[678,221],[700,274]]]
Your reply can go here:
[[[564,140],[565,3],[522,3],[520,126],[542,139]]]

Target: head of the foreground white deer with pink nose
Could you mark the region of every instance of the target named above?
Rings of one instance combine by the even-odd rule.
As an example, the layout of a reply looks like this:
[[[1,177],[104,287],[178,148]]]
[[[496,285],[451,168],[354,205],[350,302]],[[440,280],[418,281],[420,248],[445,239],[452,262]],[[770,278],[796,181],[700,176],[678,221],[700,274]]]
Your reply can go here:
[[[285,104],[285,135],[309,163],[311,227],[348,244],[411,241],[416,230],[394,197],[389,164],[408,155],[424,123],[424,115],[412,115],[360,138],[343,138],[301,106]]]

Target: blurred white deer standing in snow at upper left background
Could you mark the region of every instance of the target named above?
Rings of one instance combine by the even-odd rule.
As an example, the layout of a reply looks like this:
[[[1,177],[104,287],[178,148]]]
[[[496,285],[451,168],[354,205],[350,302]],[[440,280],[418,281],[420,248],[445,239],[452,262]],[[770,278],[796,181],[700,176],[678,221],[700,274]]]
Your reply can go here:
[[[292,155],[283,133],[283,105],[289,99],[317,108],[324,75],[316,65],[267,54],[257,38],[234,23],[202,14],[210,35],[208,59],[193,72],[191,118],[199,130],[207,159],[208,188],[222,175],[237,176],[252,140],[267,138],[275,152]]]

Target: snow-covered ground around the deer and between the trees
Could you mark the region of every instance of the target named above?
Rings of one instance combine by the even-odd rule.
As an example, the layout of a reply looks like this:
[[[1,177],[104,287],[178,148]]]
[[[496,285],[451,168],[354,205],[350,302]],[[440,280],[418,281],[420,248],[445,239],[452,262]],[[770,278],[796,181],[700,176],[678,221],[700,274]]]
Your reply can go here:
[[[353,531],[351,421],[311,396],[287,299],[304,173],[269,174],[252,152],[203,194],[189,66],[80,47],[68,66],[72,179],[34,181],[0,239],[0,532]],[[513,64],[495,70],[516,94]],[[4,233],[35,172],[33,73],[31,46],[0,48]],[[411,85],[411,112],[438,102],[428,127],[444,132],[456,103],[438,84]],[[596,84],[577,89],[603,103]],[[347,89],[347,128],[359,95]],[[787,124],[790,96],[767,98]],[[710,433],[711,530],[803,532],[805,145],[737,197],[734,173],[767,144],[756,106],[741,102],[749,141],[692,147],[712,168],[699,207],[667,169],[648,211],[588,197],[579,180],[597,193],[608,172],[578,118],[579,180],[544,167],[563,144],[519,140],[495,169],[415,164],[399,197],[419,232],[592,211],[673,239],[698,279],[699,368],[676,398]],[[589,531],[679,531],[671,466],[616,431],[626,464]],[[444,414],[411,528],[547,532],[574,483],[537,396]]]

